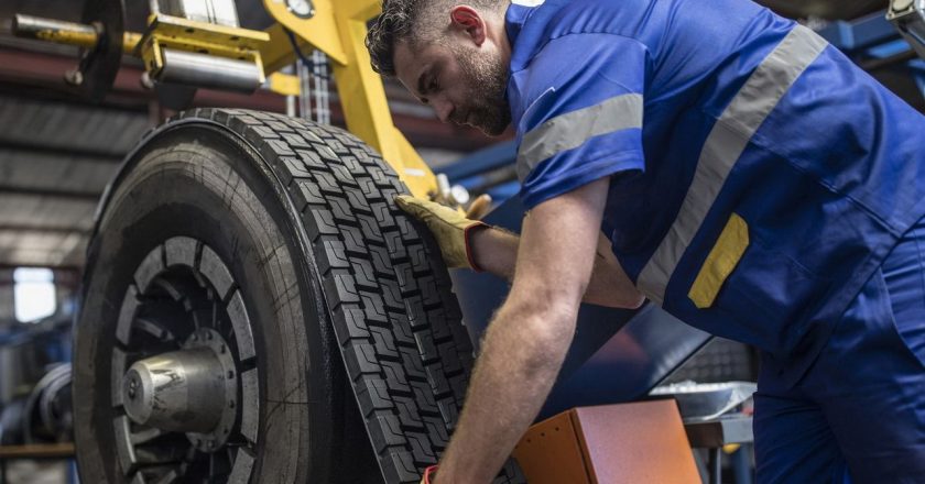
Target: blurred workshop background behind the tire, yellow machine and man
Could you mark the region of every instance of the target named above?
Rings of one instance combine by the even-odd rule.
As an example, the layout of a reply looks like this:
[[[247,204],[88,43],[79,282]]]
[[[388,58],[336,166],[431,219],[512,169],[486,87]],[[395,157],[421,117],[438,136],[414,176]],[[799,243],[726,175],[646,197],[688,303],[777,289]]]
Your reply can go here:
[[[127,30],[144,31],[144,14],[132,9],[146,2],[129,3]],[[885,0],[762,3],[823,33],[908,103],[925,109],[925,63],[885,20]],[[271,24],[261,1],[239,0],[237,8],[243,28]],[[75,97],[64,80],[76,65],[76,47],[11,34],[15,14],[79,21],[80,9],[73,0],[0,2],[0,482],[76,482],[70,332],[94,215],[129,151],[175,113],[143,86],[142,66],[132,57],[123,58],[113,89],[95,103]],[[308,86],[314,76],[304,65],[294,67],[293,73],[300,72]],[[324,106],[316,101],[324,97],[287,98],[268,89],[252,95],[199,89],[192,106],[329,118],[342,127],[336,85],[324,84],[312,84],[312,96],[322,86],[329,101]],[[465,187],[472,197],[488,193],[497,202],[516,193],[510,135],[487,139],[443,124],[394,81],[385,87],[396,127],[435,172],[447,174],[450,185]],[[712,340],[664,384],[677,389],[685,382],[754,382],[755,374],[750,348]],[[32,447],[19,457],[2,451],[22,446]],[[732,458],[721,464],[722,482],[751,482],[748,444],[725,451]],[[700,455],[701,466],[708,460]]]

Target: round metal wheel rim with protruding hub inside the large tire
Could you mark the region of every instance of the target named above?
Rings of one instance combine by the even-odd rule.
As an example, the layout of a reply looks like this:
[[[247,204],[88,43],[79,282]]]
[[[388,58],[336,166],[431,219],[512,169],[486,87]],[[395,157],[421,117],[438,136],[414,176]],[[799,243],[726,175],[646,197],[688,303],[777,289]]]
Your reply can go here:
[[[121,302],[110,374],[123,476],[248,482],[260,378],[239,284],[209,245],[186,237],[151,250],[134,283]]]

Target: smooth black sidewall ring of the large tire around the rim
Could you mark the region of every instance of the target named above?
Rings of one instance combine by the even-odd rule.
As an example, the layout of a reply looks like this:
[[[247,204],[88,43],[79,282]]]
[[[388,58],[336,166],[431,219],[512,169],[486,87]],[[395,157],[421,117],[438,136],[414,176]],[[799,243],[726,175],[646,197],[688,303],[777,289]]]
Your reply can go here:
[[[160,135],[113,191],[88,251],[75,328],[75,436],[86,482],[123,482],[111,465],[111,349],[134,267],[165,240],[209,245],[241,287],[257,345],[260,419],[252,482],[327,482],[342,370],[311,257],[259,155],[203,127]],[[222,153],[241,156],[225,156]],[[272,195],[272,196],[268,196]],[[242,283],[246,282],[246,283]],[[109,349],[110,351],[107,351]],[[334,351],[335,353],[331,353]],[[331,356],[333,354],[333,356]],[[336,360],[335,360],[336,361]],[[240,420],[239,420],[240,421]],[[100,450],[113,450],[104,454]]]

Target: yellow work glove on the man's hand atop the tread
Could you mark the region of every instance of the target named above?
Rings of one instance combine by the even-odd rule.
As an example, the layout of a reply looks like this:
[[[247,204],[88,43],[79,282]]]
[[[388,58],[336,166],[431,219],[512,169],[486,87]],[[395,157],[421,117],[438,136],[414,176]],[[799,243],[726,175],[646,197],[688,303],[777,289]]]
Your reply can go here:
[[[410,195],[395,197],[395,202],[402,210],[427,226],[440,246],[447,267],[481,272],[472,258],[469,237],[475,229],[487,228],[487,224],[467,219],[458,210]]]

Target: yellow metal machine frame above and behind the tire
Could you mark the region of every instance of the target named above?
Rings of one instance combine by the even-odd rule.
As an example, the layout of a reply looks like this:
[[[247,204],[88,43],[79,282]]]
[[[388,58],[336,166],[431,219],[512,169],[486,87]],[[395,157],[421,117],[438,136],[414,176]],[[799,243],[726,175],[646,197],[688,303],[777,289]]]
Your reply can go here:
[[[167,47],[253,63],[262,68],[259,80],[269,79],[271,89],[283,95],[298,94],[297,79],[278,73],[295,62],[296,51],[324,52],[334,67],[347,129],[379,151],[412,194],[437,198],[437,177],[395,128],[382,78],[370,65],[364,44],[367,22],[381,12],[381,0],[312,2],[314,15],[302,19],[290,11],[285,0],[263,0],[276,21],[265,32],[155,12],[143,35],[124,33],[122,50],[141,57],[153,78],[164,68],[162,48]],[[91,25],[39,18],[29,21],[33,25],[17,35],[84,48],[92,48],[100,40],[98,29]]]

